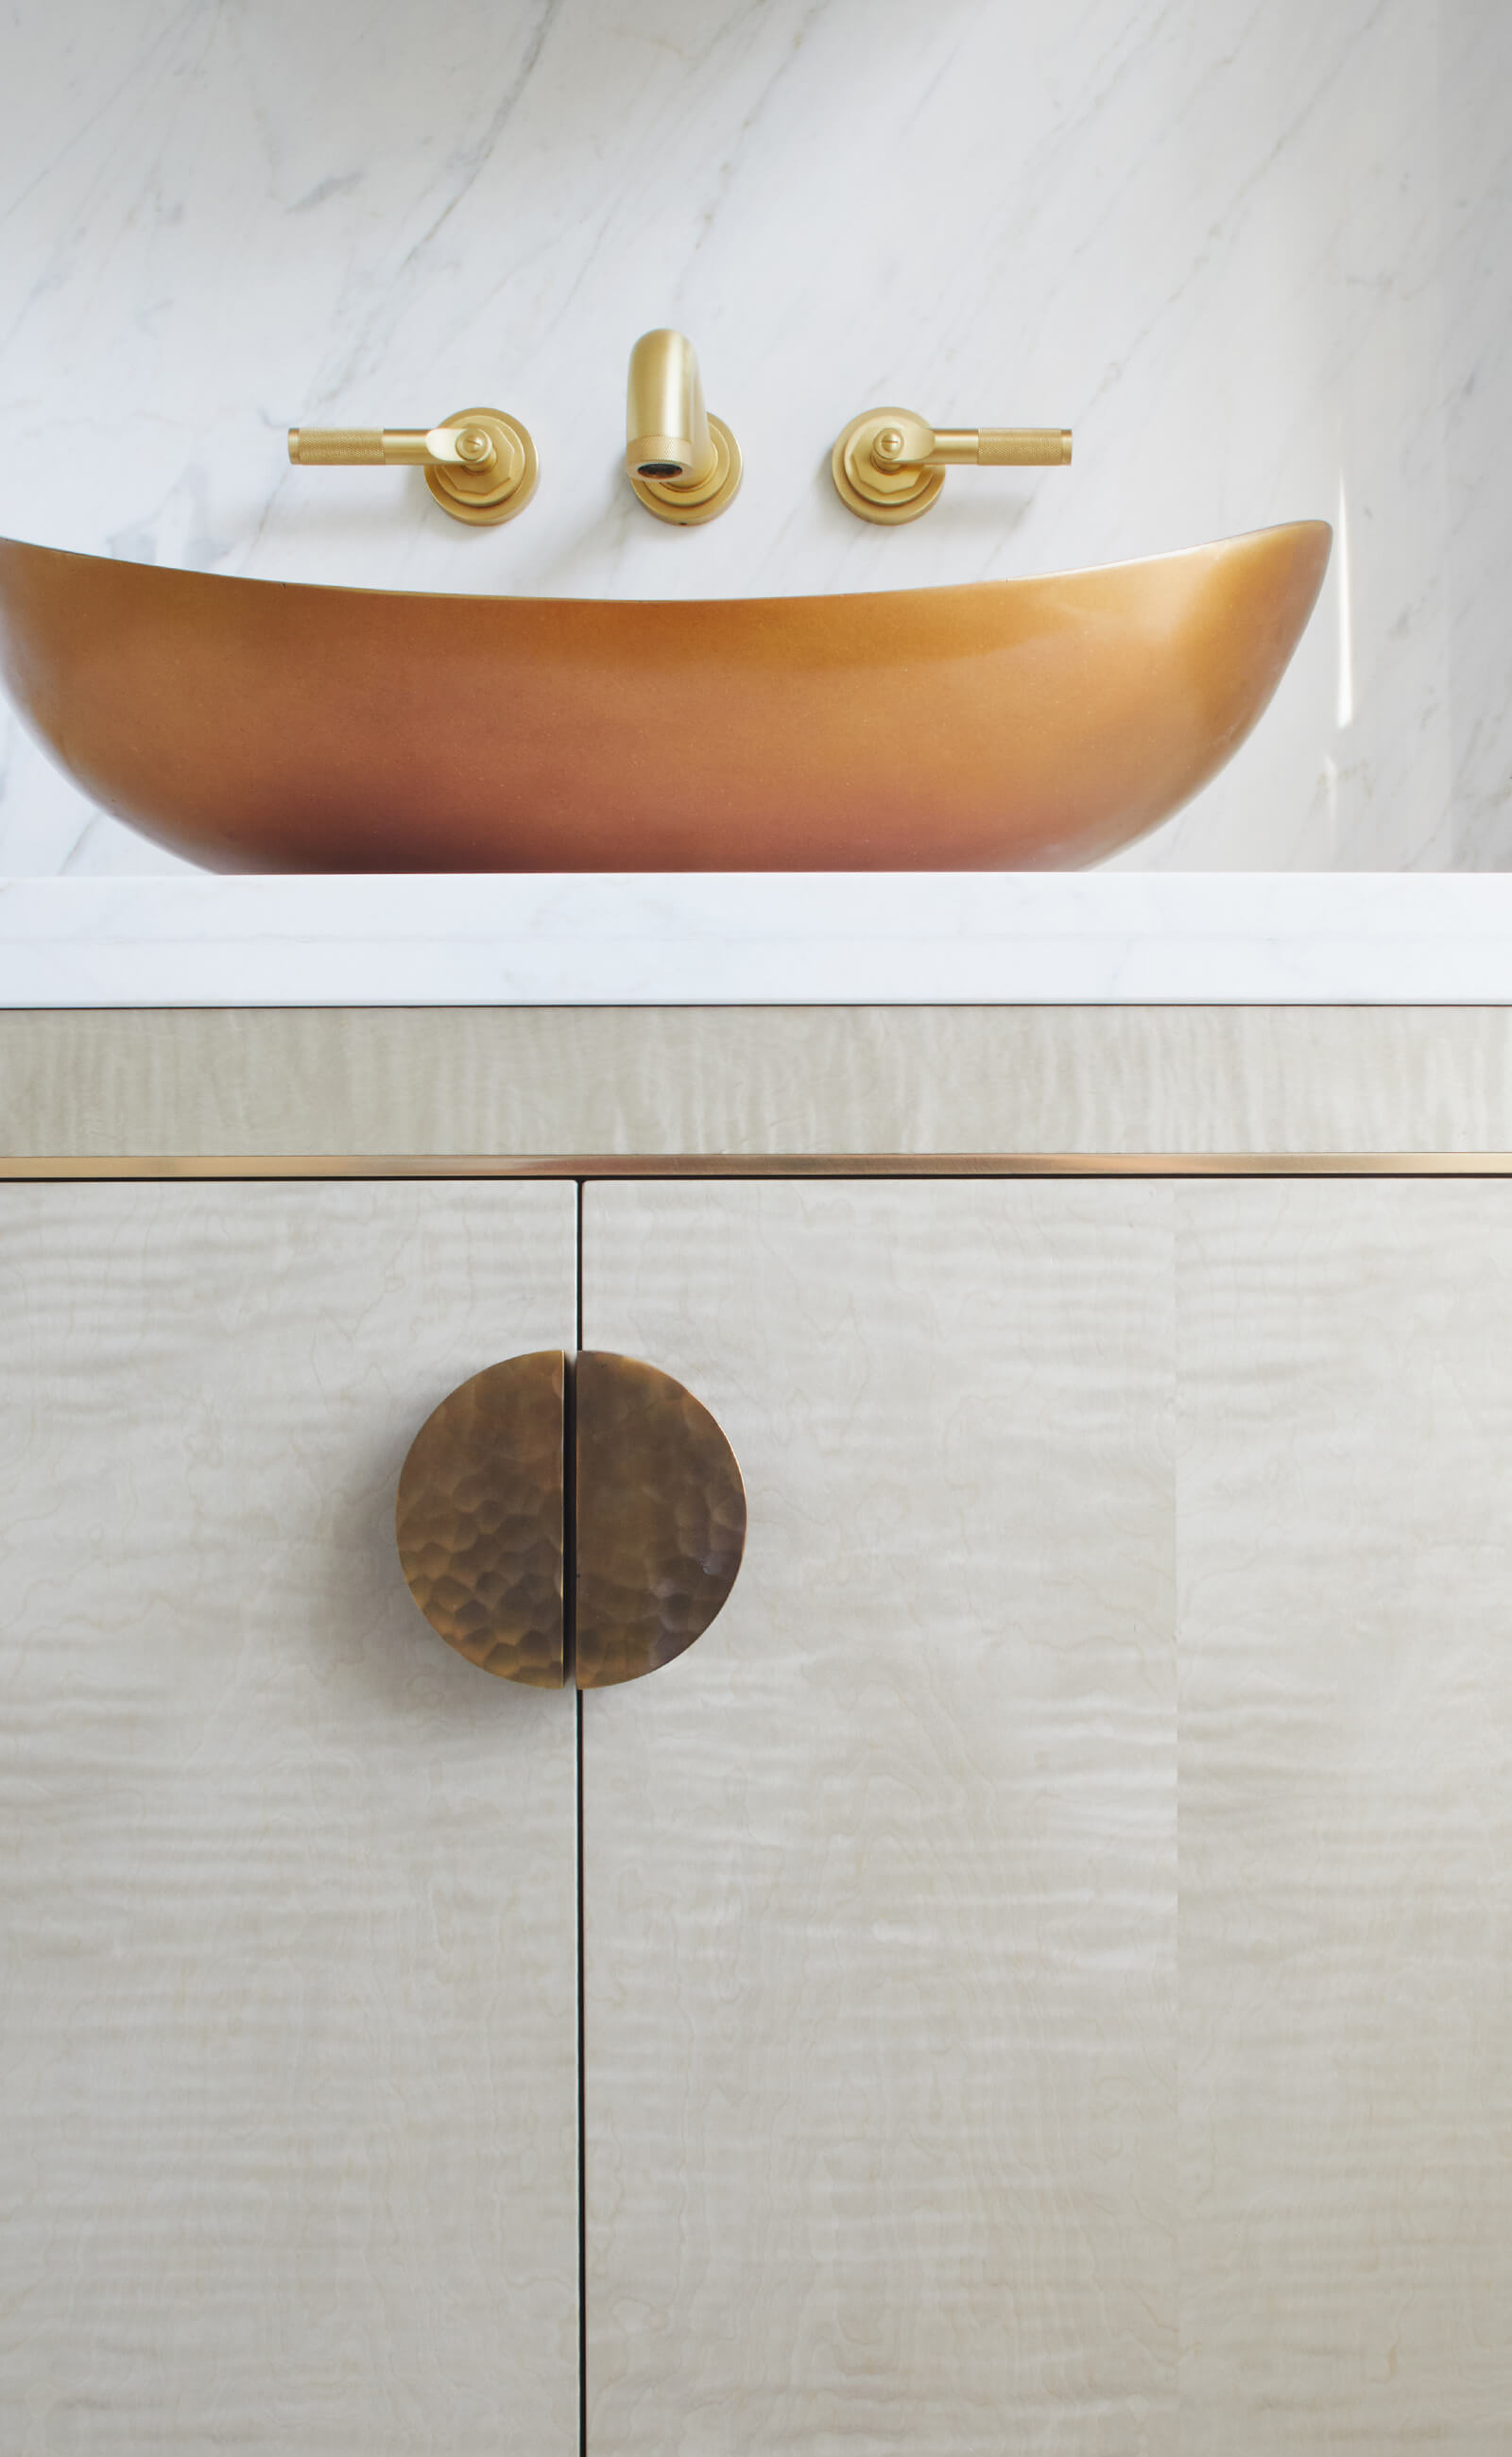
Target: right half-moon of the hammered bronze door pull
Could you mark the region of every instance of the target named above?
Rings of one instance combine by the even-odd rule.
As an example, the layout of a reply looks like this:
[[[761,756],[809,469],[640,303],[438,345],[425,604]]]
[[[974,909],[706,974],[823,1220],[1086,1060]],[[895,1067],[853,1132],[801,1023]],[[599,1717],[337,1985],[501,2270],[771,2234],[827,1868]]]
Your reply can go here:
[[[701,1639],[745,1550],[735,1452],[691,1391],[578,1356],[578,1688],[637,1681]]]

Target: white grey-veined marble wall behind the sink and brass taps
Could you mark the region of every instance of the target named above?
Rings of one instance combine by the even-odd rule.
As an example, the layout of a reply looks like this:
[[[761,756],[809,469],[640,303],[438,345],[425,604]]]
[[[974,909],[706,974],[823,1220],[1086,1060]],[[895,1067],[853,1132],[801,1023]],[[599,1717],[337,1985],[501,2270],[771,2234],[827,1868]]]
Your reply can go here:
[[[1156,867],[1512,855],[1505,0],[15,0],[0,25],[0,531],[423,590],[1008,577],[1325,514],[1276,705]],[[632,504],[629,342],[683,324],[747,459]],[[499,531],[290,420],[514,408]],[[917,528],[843,420],[1055,420],[1069,472]],[[167,870],[0,735],[0,867]]]

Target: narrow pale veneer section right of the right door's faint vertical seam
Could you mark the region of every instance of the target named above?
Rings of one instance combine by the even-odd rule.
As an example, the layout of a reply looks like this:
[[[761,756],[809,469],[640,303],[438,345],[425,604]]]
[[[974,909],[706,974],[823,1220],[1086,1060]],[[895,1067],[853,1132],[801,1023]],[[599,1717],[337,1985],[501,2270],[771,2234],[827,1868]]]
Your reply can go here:
[[[1512,2445],[1512,1187],[1180,1192],[1183,2447]]]

